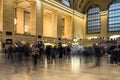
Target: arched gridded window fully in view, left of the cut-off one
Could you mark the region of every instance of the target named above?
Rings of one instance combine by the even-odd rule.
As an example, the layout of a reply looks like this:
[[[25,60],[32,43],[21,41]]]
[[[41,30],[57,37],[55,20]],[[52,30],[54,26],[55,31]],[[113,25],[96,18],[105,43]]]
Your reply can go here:
[[[87,33],[100,32],[100,8],[92,6],[87,13]]]

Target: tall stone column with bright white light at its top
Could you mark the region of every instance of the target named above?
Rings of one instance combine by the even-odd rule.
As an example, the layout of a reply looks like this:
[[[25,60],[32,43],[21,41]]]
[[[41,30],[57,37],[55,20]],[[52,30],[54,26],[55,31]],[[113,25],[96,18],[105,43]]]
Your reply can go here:
[[[43,36],[43,5],[42,1],[36,1],[32,4],[31,7],[31,19],[32,21],[32,27],[34,29],[34,32],[32,32],[33,35],[36,35],[36,41],[42,41]],[[38,38],[39,36],[39,38]],[[41,37],[41,38],[40,38]]]

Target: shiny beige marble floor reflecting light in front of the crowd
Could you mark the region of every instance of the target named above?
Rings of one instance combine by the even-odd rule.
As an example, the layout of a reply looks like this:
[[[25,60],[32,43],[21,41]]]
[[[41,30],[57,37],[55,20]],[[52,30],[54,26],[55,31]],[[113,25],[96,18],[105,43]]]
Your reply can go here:
[[[84,63],[84,59],[72,56],[70,60],[57,60],[56,63],[40,61],[37,69],[28,72],[26,64],[15,66],[0,59],[0,80],[120,80],[120,66],[111,65],[102,58],[100,68],[93,68],[94,63]],[[17,70],[17,72],[15,71]]]

